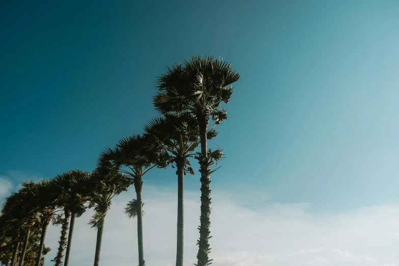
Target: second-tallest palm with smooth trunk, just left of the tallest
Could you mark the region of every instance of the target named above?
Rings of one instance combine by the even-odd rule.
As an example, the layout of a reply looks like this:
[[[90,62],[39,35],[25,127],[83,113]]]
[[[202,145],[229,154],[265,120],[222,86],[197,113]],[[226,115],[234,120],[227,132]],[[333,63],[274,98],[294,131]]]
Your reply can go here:
[[[195,153],[199,145],[199,127],[197,120],[189,113],[168,113],[161,118],[151,120],[144,130],[148,136],[148,148],[164,149],[170,155],[169,163],[177,171],[177,245],[176,266],[183,265],[183,214],[184,214],[184,175],[194,174],[188,158]],[[207,132],[208,138],[216,136],[215,129]]]

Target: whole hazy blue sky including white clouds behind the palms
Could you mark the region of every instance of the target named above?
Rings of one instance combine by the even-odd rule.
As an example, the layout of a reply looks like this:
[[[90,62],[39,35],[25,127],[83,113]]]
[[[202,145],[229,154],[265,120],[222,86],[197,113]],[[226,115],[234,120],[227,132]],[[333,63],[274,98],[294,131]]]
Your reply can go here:
[[[211,177],[214,264],[399,265],[399,2],[3,1],[0,33],[1,202],[23,179],[92,170],[156,116],[167,66],[220,56],[241,78],[211,142],[226,153]],[[174,263],[176,179],[144,180],[153,266]],[[199,175],[185,180],[191,266]],[[136,221],[121,212],[132,197],[107,217],[104,265],[137,260]],[[76,222],[71,266],[92,263],[89,217]]]

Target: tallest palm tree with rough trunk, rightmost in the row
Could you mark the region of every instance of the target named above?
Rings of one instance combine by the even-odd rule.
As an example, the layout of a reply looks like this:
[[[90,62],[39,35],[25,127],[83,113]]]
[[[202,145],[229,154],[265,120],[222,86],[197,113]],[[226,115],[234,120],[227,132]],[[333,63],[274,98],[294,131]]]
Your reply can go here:
[[[155,109],[161,113],[190,112],[198,121],[201,153],[197,156],[201,173],[201,216],[198,247],[198,266],[206,266],[209,260],[210,238],[210,167],[220,158],[221,150],[212,152],[207,147],[209,117],[216,124],[227,119],[227,113],[219,107],[228,103],[233,92],[230,86],[240,78],[227,61],[211,57],[195,57],[184,64],[175,64],[157,79],[158,93],[154,97]],[[229,87],[228,87],[229,86]],[[215,171],[215,170],[214,170]]]

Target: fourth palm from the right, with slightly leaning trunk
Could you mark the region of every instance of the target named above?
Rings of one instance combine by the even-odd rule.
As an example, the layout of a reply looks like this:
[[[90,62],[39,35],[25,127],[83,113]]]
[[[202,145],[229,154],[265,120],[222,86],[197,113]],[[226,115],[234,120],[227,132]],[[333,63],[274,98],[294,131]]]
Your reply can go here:
[[[127,191],[130,181],[123,174],[117,171],[109,171],[108,169],[95,170],[92,177],[96,184],[96,189],[90,195],[90,206],[94,207],[95,214],[89,224],[92,228],[97,228],[94,266],[99,266],[105,216],[110,209],[112,199],[122,191]]]

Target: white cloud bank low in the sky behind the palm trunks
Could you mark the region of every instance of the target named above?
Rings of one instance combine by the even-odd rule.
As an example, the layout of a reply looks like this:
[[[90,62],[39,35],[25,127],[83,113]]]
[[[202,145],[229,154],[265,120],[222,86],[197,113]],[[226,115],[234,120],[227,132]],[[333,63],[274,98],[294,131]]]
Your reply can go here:
[[[175,191],[146,186],[143,189],[147,265],[175,263]],[[193,266],[197,255],[200,194],[199,191],[186,191],[184,196],[184,265]],[[137,263],[136,219],[129,221],[123,214],[125,203],[134,197],[134,190],[130,190],[118,196],[111,206],[105,220],[101,265]],[[386,261],[386,258],[397,254],[399,240],[392,235],[399,224],[399,206],[374,206],[344,214],[311,214],[307,204],[270,204],[252,210],[232,198],[226,193],[212,191],[212,265],[304,266],[308,263],[363,266],[367,262],[377,266],[396,262],[394,259]],[[90,215],[91,211],[88,211],[76,219],[71,266],[93,263],[96,231],[87,225]],[[46,266],[51,265],[50,259],[55,256],[60,229],[51,227],[48,230],[46,245],[52,251],[46,257]],[[379,264],[375,264],[376,261]]]

